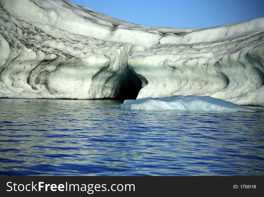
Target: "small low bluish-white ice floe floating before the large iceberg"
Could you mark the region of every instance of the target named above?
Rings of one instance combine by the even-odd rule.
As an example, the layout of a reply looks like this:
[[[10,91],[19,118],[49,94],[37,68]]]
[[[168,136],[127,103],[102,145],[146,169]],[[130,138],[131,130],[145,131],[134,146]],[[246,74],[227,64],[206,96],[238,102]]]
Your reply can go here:
[[[121,104],[121,109],[146,111],[256,112],[255,109],[208,96],[171,96],[125,100],[124,104]]]

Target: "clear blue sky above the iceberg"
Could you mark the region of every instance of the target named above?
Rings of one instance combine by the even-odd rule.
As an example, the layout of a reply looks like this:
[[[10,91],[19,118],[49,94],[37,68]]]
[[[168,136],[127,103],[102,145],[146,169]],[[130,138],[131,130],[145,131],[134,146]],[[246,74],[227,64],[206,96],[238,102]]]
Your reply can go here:
[[[70,0],[141,25],[211,27],[264,16],[264,0]]]

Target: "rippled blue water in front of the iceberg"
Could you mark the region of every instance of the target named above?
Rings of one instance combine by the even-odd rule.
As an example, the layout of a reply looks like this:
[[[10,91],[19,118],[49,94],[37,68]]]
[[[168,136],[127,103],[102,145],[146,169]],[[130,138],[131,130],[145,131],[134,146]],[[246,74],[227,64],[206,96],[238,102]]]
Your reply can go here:
[[[0,175],[264,175],[264,110],[120,110],[0,100]]]

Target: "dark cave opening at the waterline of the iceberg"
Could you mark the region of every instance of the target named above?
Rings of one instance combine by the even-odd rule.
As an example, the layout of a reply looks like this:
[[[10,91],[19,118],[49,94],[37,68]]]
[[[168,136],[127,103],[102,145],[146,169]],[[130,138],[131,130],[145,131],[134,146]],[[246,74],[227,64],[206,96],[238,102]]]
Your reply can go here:
[[[136,99],[139,91],[142,88],[142,82],[137,75],[128,69],[126,77],[122,80],[120,84],[119,93],[116,99],[126,100],[126,99]]]

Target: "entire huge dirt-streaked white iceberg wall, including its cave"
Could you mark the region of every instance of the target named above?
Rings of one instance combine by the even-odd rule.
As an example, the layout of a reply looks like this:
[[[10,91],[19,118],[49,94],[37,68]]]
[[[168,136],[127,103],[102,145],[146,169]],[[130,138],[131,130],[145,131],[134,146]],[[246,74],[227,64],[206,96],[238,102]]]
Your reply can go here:
[[[66,0],[0,1],[0,97],[211,96],[264,106],[264,18],[149,27]]]

